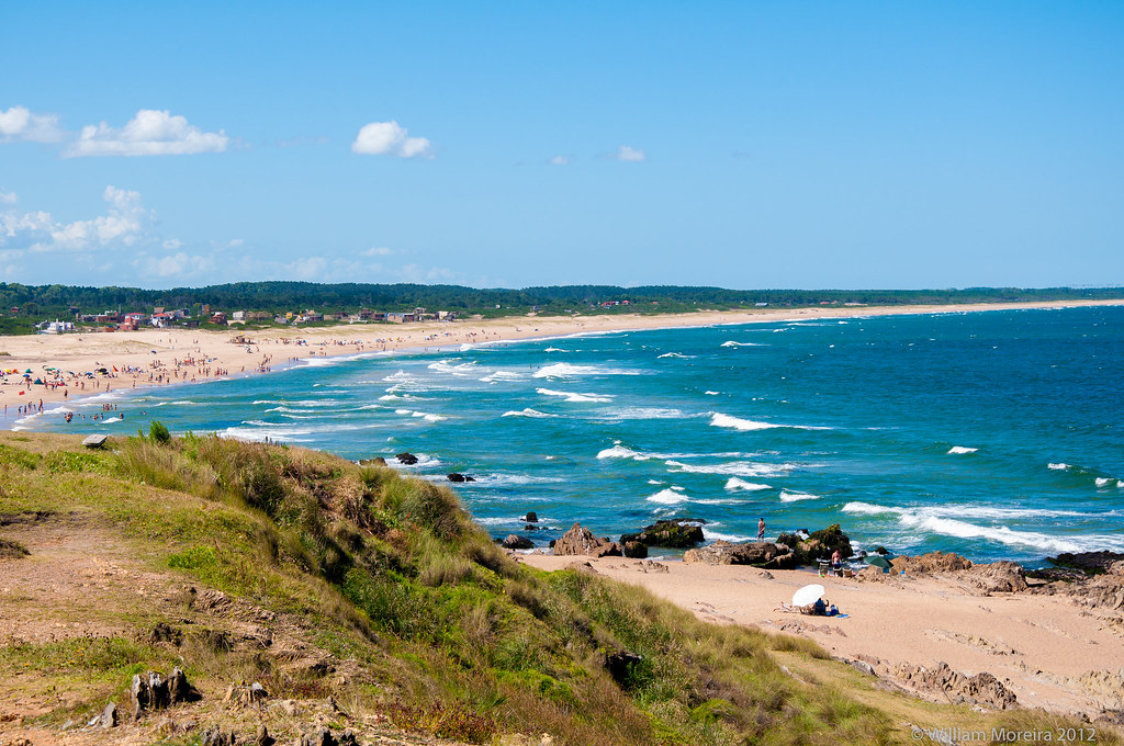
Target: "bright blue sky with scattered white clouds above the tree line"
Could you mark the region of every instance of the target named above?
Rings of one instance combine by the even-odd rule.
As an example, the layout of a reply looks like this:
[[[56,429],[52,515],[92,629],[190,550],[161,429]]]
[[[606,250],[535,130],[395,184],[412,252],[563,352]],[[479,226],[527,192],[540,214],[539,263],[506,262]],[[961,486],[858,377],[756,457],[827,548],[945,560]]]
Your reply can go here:
[[[1124,284],[1112,2],[4,3],[0,281]]]

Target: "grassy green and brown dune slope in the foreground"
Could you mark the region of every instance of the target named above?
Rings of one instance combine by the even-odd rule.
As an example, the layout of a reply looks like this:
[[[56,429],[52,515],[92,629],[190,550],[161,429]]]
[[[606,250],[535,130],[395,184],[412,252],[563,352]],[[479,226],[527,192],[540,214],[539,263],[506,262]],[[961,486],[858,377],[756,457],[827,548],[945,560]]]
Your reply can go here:
[[[19,547],[0,555],[0,577],[55,589],[33,577],[0,594],[15,620],[0,634],[0,734],[6,717],[55,733],[121,707],[134,673],[172,665],[203,701],[173,709],[173,725],[123,726],[136,743],[197,743],[176,718],[239,733],[266,721],[291,743],[329,695],[318,721],[330,726],[481,744],[905,744],[918,743],[910,725],[1081,725],[923,703],[807,640],[708,625],[590,573],[533,571],[448,489],[384,466],[152,435],[90,452],[0,434],[0,538]],[[52,575],[64,555],[73,568]],[[640,657],[613,675],[622,652]],[[242,681],[297,708],[220,707]],[[1100,730],[1097,743],[1120,742]]]

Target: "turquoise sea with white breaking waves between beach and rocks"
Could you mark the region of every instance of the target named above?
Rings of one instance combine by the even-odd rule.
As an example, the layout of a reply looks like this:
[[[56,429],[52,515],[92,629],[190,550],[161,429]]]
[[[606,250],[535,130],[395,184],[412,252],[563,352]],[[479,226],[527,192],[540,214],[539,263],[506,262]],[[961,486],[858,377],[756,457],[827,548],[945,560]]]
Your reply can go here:
[[[1033,564],[1124,551],[1122,382],[1124,308],[988,311],[314,358],[121,394],[124,422],[19,427],[409,451],[404,471],[474,476],[455,489],[496,535],[536,511],[538,544],[668,517],[737,540],[764,517],[769,536],[840,522],[860,547]]]

